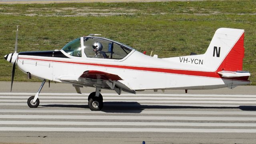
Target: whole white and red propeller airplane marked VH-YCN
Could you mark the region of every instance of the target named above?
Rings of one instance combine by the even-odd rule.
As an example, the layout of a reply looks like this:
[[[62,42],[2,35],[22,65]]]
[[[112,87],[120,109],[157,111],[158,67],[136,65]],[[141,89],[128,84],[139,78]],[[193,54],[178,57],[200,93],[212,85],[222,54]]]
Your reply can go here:
[[[130,46],[90,34],[66,44],[61,50],[14,53],[4,58],[28,74],[43,80],[28,106],[39,105],[38,95],[46,80],[72,84],[78,93],[83,86],[95,87],[88,96],[91,110],[101,110],[101,89],[135,94],[142,90],[215,89],[250,84],[250,73],[242,71],[244,30],[219,28],[205,54],[158,58]],[[11,85],[12,90],[12,85]]]

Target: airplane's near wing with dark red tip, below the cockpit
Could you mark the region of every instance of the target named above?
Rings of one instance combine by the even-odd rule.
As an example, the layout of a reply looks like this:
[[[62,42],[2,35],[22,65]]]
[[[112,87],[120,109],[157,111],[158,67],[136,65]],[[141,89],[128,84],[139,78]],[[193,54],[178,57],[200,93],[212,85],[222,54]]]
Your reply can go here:
[[[131,90],[119,81],[123,80],[120,76],[97,70],[85,71],[79,78],[62,76],[60,80],[72,83],[76,89],[79,86],[91,86],[115,90],[118,94],[121,94],[122,91],[135,94],[134,90]]]

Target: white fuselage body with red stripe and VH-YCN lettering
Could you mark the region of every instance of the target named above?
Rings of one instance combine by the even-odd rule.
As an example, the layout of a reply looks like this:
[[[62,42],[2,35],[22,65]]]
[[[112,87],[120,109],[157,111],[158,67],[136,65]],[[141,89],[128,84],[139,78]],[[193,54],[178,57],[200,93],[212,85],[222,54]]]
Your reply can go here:
[[[132,90],[146,89],[214,89],[248,84],[242,78],[222,78],[217,69],[204,66],[204,55],[175,58],[147,56],[134,49],[121,59],[93,58],[85,54],[81,40],[81,56],[64,50],[20,52],[18,67],[41,79],[62,81],[62,77],[76,80],[87,70],[116,74],[120,82]]]

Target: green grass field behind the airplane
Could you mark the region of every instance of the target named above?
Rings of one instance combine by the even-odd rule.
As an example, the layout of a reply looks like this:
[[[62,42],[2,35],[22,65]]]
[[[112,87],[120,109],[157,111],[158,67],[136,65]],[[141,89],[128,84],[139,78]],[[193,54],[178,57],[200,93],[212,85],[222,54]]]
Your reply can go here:
[[[61,49],[91,33],[127,44],[158,57],[203,54],[221,27],[244,29],[244,70],[256,84],[256,1],[65,3],[0,5],[0,81],[11,80],[12,65],[4,55]],[[27,81],[16,70],[15,81]],[[29,81],[38,81],[32,78]]]

